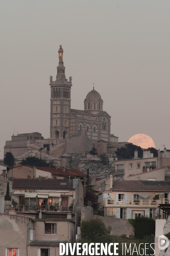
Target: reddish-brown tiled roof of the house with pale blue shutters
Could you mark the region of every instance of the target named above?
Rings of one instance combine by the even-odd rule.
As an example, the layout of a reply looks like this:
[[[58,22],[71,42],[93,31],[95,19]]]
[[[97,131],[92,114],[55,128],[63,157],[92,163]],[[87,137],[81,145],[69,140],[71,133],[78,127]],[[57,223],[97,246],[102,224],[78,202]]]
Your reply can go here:
[[[170,191],[170,181],[113,180],[112,190]]]

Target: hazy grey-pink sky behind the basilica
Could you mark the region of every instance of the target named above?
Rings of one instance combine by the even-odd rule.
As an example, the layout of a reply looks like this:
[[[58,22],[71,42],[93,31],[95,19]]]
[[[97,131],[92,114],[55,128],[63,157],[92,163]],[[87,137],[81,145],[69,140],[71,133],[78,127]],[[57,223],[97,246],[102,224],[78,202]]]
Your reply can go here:
[[[14,125],[50,136],[59,44],[71,108],[95,83],[119,141],[170,149],[170,0],[1,0],[0,35],[0,159]]]

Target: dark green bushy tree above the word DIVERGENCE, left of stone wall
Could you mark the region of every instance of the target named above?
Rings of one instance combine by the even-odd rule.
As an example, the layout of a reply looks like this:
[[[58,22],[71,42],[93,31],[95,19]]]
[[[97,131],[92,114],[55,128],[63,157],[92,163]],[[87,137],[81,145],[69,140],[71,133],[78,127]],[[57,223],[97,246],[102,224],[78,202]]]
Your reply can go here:
[[[94,243],[109,243],[111,241],[110,231],[99,217],[83,220],[80,228],[81,239]]]

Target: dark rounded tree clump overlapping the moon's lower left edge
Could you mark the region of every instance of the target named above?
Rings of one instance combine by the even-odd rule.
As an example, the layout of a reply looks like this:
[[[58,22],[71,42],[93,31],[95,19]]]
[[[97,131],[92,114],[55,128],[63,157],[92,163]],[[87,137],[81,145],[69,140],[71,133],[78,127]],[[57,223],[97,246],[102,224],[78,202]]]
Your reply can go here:
[[[115,151],[116,156],[118,157],[118,160],[122,159],[133,159],[134,157],[134,151],[138,151],[138,157],[143,157],[143,150],[141,147],[133,144],[125,144],[125,147],[117,148]]]

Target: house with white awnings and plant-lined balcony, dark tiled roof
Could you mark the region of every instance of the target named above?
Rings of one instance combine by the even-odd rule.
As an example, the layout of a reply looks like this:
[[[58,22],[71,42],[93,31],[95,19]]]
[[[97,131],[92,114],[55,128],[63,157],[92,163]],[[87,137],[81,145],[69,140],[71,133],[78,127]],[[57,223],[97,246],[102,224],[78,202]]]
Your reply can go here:
[[[74,212],[77,203],[84,203],[84,189],[79,179],[13,179],[12,198],[16,211],[38,215]]]

